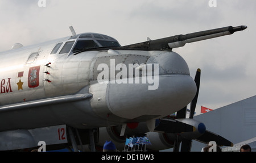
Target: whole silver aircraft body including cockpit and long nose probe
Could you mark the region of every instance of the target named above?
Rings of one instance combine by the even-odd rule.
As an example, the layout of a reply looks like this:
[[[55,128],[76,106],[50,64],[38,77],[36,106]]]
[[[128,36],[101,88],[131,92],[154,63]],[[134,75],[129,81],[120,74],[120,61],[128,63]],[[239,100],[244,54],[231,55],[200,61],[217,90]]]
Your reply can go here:
[[[174,120],[166,117],[191,103],[198,87],[172,48],[245,28],[230,26],[123,47],[110,36],[74,31],[42,44],[15,44],[0,53],[0,151],[36,147],[46,131],[49,135],[44,133],[42,141],[47,145],[74,145],[72,129],[89,133],[90,145],[115,136],[123,143],[121,136],[129,133],[147,133],[160,141],[166,132],[165,139],[176,140],[178,132],[157,129],[156,120]],[[201,123],[177,118],[177,123],[199,131]],[[52,135],[56,141],[47,143]],[[163,146],[156,150],[174,144]]]

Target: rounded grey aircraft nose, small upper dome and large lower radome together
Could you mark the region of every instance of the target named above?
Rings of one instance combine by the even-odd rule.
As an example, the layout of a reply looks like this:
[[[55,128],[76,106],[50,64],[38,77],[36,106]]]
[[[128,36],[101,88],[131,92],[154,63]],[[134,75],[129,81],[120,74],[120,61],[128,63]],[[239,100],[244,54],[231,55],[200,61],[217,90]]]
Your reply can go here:
[[[134,83],[109,84],[106,98],[113,114],[126,119],[160,118],[180,110],[195,97],[196,84],[177,53],[152,56],[147,64],[159,64],[159,76],[147,76],[146,83],[136,82],[142,80],[137,77]],[[154,83],[148,82],[150,79]],[[156,89],[148,89],[152,85]]]

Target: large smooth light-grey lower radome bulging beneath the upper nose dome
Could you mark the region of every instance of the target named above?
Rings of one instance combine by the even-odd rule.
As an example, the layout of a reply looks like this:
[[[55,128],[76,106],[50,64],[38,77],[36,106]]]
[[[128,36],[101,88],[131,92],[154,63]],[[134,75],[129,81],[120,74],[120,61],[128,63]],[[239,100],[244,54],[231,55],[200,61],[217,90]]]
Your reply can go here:
[[[183,108],[196,91],[195,83],[190,76],[160,76],[158,89],[148,90],[147,86],[110,84],[108,92],[110,110],[114,115],[126,119],[139,119],[143,115],[162,118],[170,112]]]

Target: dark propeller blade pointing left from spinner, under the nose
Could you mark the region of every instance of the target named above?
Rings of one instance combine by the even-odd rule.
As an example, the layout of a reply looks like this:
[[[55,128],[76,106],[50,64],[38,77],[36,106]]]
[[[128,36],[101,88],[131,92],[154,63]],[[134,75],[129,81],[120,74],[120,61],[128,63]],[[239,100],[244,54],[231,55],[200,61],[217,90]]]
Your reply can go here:
[[[179,122],[175,119],[160,119],[159,125],[155,128],[155,131],[161,131],[165,133],[181,133],[181,132],[193,132],[196,128]]]

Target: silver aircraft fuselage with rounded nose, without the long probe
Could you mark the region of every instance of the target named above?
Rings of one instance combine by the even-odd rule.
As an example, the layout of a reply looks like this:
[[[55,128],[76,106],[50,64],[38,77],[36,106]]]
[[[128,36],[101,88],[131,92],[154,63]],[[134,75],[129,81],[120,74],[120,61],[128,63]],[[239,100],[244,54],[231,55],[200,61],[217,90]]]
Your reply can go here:
[[[145,122],[180,110],[195,96],[188,66],[175,52],[109,48],[76,54],[79,40],[90,39],[65,37],[0,54],[0,131]]]

